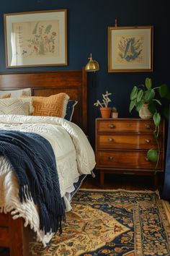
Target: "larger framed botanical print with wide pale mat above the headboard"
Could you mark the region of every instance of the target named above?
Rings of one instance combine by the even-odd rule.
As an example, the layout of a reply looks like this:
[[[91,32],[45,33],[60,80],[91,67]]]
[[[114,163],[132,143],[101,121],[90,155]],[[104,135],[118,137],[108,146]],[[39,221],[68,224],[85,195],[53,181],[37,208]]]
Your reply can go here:
[[[4,14],[6,67],[66,66],[67,10]]]

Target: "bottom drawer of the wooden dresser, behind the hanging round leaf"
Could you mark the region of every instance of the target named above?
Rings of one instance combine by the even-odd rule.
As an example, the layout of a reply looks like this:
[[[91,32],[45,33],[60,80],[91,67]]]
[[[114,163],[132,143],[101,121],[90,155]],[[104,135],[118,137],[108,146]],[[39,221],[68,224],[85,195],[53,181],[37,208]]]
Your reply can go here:
[[[98,151],[97,168],[145,169],[155,171],[156,163],[147,160],[147,151]],[[156,169],[161,169],[162,154]]]

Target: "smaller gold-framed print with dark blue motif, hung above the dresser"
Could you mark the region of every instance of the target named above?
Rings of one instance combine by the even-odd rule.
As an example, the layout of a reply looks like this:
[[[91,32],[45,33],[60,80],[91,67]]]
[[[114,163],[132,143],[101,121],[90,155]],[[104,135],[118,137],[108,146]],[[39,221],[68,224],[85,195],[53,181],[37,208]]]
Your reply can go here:
[[[153,72],[153,26],[108,27],[108,72]]]

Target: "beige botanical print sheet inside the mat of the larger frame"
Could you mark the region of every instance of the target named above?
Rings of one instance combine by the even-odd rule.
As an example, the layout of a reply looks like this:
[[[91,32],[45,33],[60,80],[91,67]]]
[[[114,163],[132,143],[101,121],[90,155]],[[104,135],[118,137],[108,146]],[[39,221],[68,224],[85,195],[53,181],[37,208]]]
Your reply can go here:
[[[17,52],[14,59],[56,58],[60,54],[59,23],[56,20],[14,22]]]

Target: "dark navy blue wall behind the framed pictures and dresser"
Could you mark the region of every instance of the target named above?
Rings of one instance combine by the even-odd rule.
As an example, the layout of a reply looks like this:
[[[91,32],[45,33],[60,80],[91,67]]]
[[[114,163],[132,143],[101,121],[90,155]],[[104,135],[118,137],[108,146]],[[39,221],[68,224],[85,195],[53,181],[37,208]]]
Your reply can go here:
[[[0,72],[31,70],[81,69],[89,54],[99,61],[100,70],[88,74],[89,79],[89,135],[94,143],[94,119],[99,116],[93,106],[101,93],[112,92],[112,103],[117,106],[120,117],[129,117],[129,95],[134,85],[143,83],[146,77],[153,85],[169,78],[169,6],[167,0],[5,0],[0,9]],[[48,9],[68,9],[68,66],[67,67],[5,67],[3,14],[30,12]],[[107,72],[107,27],[153,25],[153,72],[108,73]],[[136,113],[133,113],[136,116]]]

